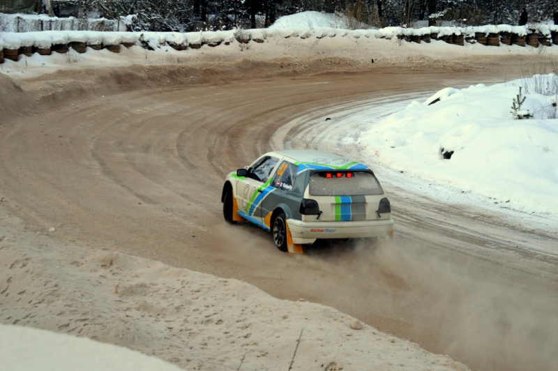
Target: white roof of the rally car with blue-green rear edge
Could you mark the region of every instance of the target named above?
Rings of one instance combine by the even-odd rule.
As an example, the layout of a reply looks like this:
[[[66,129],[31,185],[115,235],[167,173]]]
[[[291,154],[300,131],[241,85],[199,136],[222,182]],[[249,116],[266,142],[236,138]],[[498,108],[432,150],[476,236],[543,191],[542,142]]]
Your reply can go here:
[[[310,169],[368,169],[367,166],[361,164],[359,161],[328,151],[285,149],[272,153],[277,153],[289,158],[294,165],[302,164]]]

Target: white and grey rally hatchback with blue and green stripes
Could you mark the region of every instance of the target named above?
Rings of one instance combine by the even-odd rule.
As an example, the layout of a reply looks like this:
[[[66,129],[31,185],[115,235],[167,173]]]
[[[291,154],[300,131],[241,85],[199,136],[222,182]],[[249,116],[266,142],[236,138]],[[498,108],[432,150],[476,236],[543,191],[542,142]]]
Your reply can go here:
[[[282,251],[301,253],[317,239],[393,236],[389,199],[372,170],[331,152],[265,153],[227,175],[221,202],[227,222],[266,229]]]

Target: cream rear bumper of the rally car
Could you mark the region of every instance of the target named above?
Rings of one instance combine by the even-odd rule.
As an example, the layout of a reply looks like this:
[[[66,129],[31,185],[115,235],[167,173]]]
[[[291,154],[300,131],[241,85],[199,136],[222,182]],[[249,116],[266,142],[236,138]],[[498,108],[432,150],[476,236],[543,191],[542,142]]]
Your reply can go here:
[[[314,243],[317,239],[356,239],[393,235],[393,219],[359,222],[303,222],[288,219],[294,243]]]

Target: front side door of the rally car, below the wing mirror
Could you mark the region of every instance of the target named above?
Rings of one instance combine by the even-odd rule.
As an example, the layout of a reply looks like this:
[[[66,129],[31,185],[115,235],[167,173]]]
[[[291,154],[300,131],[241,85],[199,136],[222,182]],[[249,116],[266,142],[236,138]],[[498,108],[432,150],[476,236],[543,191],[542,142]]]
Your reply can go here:
[[[240,215],[262,226],[262,212],[259,207],[263,199],[262,193],[271,182],[270,176],[278,162],[279,158],[275,156],[258,158],[248,167],[248,174],[243,179],[239,179],[236,186],[235,197]]]

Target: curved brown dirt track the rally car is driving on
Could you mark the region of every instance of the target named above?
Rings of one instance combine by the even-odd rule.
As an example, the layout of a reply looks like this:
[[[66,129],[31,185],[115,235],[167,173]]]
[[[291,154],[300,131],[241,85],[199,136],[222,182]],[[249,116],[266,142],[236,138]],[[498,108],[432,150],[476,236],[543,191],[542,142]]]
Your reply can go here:
[[[55,227],[62,241],[331,305],[472,369],[557,368],[558,259],[528,249],[557,244],[555,234],[396,184],[386,189],[398,239],[377,250],[349,243],[287,255],[264,231],[225,225],[221,214],[227,172],[271,143],[322,147],[308,131],[275,135],[294,119],[361,100],[502,81],[513,77],[499,67],[503,60],[451,74],[399,65],[303,76],[294,66],[271,72],[276,62],[231,68],[236,81],[227,81],[226,69],[163,67],[84,71],[77,83],[70,73],[39,77],[22,82],[24,93],[14,88],[22,100],[11,107],[27,112],[6,111],[0,126],[1,204],[12,214],[8,222],[32,232]],[[259,78],[238,80],[250,74]]]

